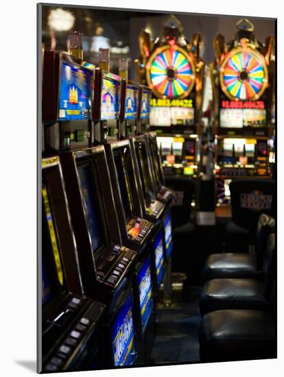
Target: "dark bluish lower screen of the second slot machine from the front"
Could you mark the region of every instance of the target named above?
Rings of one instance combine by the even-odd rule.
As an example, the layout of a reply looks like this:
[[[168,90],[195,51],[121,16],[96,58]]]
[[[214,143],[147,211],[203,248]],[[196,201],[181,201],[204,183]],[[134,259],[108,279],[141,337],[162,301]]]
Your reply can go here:
[[[78,167],[78,174],[86,205],[88,231],[91,236],[93,252],[96,252],[104,244],[104,239],[102,236],[102,224],[99,219],[99,209],[95,202],[95,187],[91,181],[91,165]]]

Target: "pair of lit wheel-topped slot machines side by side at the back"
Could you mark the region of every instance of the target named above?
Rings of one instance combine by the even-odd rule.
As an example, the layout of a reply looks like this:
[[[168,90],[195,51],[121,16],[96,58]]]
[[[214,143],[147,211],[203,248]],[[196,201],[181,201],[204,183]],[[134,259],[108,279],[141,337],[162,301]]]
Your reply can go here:
[[[145,31],[140,35],[139,75],[153,92],[150,129],[157,134],[163,172],[200,176],[206,115],[217,205],[230,202],[232,179],[270,179],[274,166],[274,37],[259,42],[247,19],[236,26],[233,40],[226,43],[221,34],[213,40],[207,109],[202,106],[208,79],[200,35],[188,41],[174,17],[155,42]]]

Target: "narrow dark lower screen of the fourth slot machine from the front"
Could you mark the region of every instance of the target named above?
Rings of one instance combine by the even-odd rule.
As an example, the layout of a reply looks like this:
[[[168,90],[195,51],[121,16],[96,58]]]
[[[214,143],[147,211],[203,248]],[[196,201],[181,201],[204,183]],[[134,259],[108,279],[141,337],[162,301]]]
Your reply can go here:
[[[142,181],[143,194],[146,199],[154,199],[154,189],[152,187],[152,182],[150,178],[150,167],[147,161],[147,153],[145,143],[135,143],[135,148],[137,151],[137,160],[139,165],[139,171]]]

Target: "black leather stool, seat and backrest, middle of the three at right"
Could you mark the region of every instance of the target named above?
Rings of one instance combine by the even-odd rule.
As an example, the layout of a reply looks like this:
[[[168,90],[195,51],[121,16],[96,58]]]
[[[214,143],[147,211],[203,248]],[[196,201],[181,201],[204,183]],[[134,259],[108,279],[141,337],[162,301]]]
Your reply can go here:
[[[270,234],[263,261],[263,280],[213,279],[204,284],[200,297],[200,313],[222,309],[252,309],[268,311],[276,276],[275,234]]]

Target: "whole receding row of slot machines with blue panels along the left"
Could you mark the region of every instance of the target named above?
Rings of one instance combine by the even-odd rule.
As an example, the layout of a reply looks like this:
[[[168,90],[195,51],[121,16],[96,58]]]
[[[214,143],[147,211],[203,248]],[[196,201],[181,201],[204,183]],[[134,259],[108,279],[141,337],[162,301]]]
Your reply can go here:
[[[43,52],[42,372],[150,363],[173,247],[151,90],[80,39]]]

